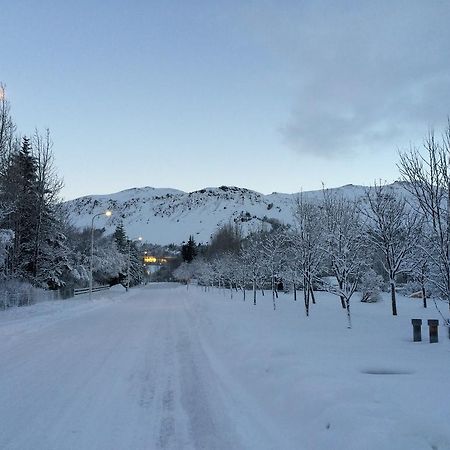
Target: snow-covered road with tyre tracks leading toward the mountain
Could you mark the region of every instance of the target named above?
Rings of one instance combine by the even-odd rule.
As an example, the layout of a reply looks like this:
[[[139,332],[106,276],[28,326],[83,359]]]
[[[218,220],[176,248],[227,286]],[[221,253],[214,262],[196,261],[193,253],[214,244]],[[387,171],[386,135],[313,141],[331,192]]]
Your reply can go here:
[[[195,320],[142,288],[2,345],[0,448],[248,448]]]

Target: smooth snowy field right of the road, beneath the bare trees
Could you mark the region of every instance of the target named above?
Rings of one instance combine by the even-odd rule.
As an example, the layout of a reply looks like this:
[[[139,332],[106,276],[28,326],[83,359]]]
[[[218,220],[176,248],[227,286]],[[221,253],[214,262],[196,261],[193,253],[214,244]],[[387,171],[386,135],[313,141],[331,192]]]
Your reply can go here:
[[[441,326],[440,342],[428,343],[435,308],[400,297],[393,317],[387,296],[354,302],[348,330],[326,293],[309,319],[288,295],[277,311],[267,294],[256,307],[236,294],[187,295],[205,347],[289,448],[450,449],[450,341]],[[411,318],[424,320],[420,343],[412,342]]]

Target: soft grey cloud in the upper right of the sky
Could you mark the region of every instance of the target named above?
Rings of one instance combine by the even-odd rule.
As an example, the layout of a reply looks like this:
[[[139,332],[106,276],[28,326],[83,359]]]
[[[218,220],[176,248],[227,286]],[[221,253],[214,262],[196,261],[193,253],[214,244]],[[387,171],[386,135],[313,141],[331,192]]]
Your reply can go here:
[[[266,2],[249,17],[289,71],[280,131],[298,152],[395,150],[450,114],[447,1]]]

